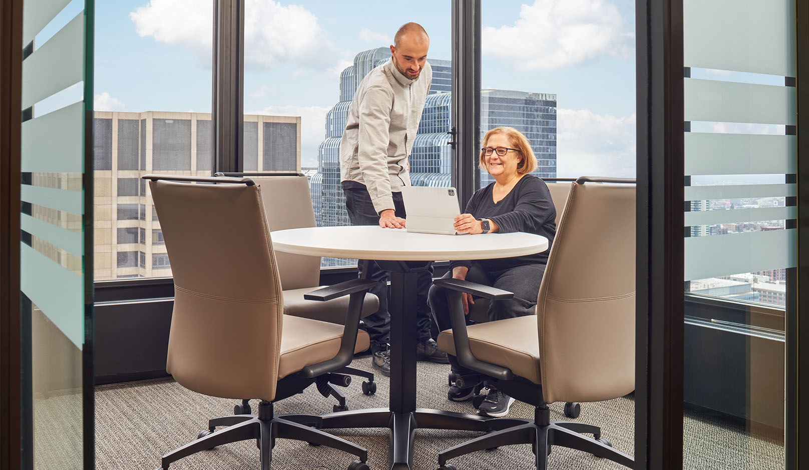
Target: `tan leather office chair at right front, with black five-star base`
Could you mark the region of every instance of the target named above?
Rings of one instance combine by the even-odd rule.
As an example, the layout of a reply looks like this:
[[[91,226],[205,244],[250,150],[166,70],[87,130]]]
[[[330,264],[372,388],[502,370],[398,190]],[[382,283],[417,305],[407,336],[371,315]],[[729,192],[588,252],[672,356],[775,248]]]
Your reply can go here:
[[[489,299],[512,294],[472,282],[435,281],[447,288],[452,320],[452,329],[438,335],[438,347],[493,377],[506,395],[535,406],[533,420],[514,420],[515,426],[439,452],[443,470],[454,469],[447,459],[458,455],[519,443],[532,444],[540,470],[552,444],[633,465],[601,438],[598,426],[550,421],[547,405],[610,400],[634,390],[635,188],[628,183],[633,180],[580,178],[571,184],[536,315],[467,327],[461,292]]]

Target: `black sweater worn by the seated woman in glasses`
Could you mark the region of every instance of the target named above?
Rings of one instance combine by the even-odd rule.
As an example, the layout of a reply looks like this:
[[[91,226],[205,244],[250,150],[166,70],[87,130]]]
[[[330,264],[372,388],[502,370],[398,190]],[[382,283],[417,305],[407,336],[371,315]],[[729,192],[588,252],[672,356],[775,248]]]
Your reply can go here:
[[[492,199],[493,188],[494,183],[472,194],[466,205],[466,213],[472,214],[475,218],[492,220],[500,227],[500,233],[523,231],[542,235],[548,239],[548,249],[533,255],[478,260],[478,262],[488,272],[521,265],[546,264],[553,237],[556,235],[556,208],[548,186],[536,176],[526,175],[498,202]],[[469,267],[470,262],[452,261],[450,269],[455,266]]]

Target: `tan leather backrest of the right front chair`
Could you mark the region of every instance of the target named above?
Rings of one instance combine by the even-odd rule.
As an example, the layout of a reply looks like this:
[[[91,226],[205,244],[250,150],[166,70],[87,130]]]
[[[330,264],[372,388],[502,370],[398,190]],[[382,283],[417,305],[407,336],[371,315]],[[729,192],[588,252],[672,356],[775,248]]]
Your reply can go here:
[[[536,315],[547,403],[634,390],[634,184],[570,184]]]

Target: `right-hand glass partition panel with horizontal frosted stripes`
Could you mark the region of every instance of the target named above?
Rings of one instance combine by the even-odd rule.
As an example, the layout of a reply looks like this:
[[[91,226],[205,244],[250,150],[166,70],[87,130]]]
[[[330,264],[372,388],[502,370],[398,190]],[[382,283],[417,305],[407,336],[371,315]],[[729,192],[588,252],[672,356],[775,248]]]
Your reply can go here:
[[[795,3],[684,0],[683,33],[683,466],[785,468]]]

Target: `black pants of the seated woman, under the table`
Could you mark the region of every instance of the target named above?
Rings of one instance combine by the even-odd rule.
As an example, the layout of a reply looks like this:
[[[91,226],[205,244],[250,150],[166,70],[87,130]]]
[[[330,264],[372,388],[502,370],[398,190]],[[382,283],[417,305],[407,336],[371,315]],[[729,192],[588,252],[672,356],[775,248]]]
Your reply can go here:
[[[542,275],[545,273],[545,265],[523,265],[510,269],[487,272],[477,261],[472,261],[466,280],[476,282],[485,286],[493,286],[498,289],[514,292],[513,299],[493,300],[489,303],[489,321],[504,320],[518,316],[534,315],[536,312],[536,298],[540,294],[540,283]],[[445,278],[452,277],[452,272],[448,271]],[[472,300],[475,300],[474,298]],[[450,321],[450,309],[447,302],[447,290],[443,287],[430,287],[428,302],[438,324],[440,331],[452,328]],[[470,308],[472,305],[469,306]],[[473,322],[466,319],[467,324]],[[472,370],[461,366],[458,359],[451,354],[447,354],[452,366],[452,371],[456,374],[464,375],[473,373]]]

